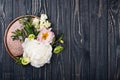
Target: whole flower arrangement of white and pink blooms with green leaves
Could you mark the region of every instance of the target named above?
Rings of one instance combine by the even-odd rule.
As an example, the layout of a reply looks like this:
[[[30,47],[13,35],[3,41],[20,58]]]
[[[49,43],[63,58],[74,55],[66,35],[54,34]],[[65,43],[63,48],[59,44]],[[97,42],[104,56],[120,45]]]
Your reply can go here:
[[[13,40],[20,40],[23,47],[23,54],[17,57],[17,63],[30,63],[39,68],[50,63],[52,53],[58,54],[64,49],[63,34],[56,37],[46,14],[34,18],[25,16],[19,22],[21,29],[12,32],[11,36]]]

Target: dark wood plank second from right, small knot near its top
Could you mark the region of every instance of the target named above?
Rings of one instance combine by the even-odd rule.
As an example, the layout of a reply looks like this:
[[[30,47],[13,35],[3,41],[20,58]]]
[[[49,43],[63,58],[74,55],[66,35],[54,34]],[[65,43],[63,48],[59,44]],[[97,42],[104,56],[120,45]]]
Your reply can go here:
[[[107,80],[107,0],[89,5],[90,80]]]

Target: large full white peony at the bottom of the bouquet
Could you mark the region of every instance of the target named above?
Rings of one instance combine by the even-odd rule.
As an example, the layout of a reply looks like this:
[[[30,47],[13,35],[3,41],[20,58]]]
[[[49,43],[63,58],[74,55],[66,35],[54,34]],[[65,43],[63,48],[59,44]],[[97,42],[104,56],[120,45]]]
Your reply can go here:
[[[30,63],[34,67],[42,67],[46,63],[50,63],[52,56],[52,46],[50,44],[41,44],[37,40],[25,39],[23,46],[23,57],[29,58]]]

